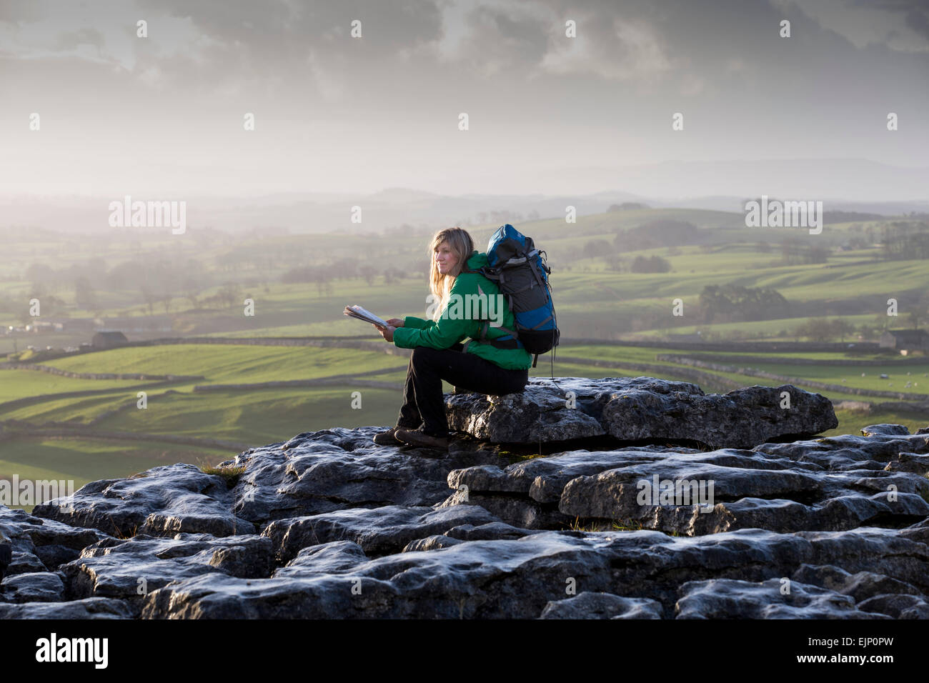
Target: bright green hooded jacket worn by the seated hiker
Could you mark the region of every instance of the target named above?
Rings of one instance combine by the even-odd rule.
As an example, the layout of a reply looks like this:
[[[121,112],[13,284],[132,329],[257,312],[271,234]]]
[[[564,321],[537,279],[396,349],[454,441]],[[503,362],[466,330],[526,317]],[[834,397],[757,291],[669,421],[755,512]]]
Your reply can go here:
[[[470,269],[486,265],[487,255],[477,250],[467,259]],[[502,326],[510,330],[515,329],[513,311],[506,305],[503,296],[496,298],[499,294],[500,288],[497,284],[480,273],[462,272],[451,286],[449,303],[442,311],[442,317],[438,322],[412,315],[406,316],[403,319],[403,327],[394,330],[394,345],[399,348],[451,348],[454,344],[470,338],[474,341],[467,345],[465,353],[473,353],[507,370],[529,369],[532,366],[532,356],[525,348],[496,348],[492,344],[478,341],[483,321],[491,321],[487,328],[488,339],[507,334],[499,327],[493,326],[493,323],[500,320],[498,311],[501,309]],[[493,308],[488,308],[491,306],[489,297],[494,297]],[[487,303],[479,306],[478,299]],[[493,315],[490,315],[491,312]]]

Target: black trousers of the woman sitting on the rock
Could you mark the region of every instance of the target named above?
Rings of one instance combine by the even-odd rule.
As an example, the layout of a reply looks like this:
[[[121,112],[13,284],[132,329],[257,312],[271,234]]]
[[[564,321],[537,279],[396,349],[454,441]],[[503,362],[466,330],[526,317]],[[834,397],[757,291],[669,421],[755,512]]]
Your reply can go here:
[[[442,397],[442,380],[456,388],[489,396],[503,396],[522,391],[529,383],[529,369],[506,370],[496,363],[463,353],[462,345],[451,348],[416,347],[410,355],[403,407],[397,426],[444,437],[449,433]]]

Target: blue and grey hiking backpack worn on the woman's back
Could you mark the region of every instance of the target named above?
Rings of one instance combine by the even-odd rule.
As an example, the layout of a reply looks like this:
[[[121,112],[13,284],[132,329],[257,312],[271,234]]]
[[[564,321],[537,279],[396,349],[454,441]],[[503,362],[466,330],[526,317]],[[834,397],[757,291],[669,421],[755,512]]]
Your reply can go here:
[[[560,335],[548,283],[552,269],[546,265],[544,253],[535,248],[531,237],[507,223],[494,232],[487,243],[488,265],[478,270],[465,265],[464,269],[464,272],[479,272],[496,282],[516,320],[515,330],[498,328],[507,334],[496,339],[487,338],[490,322],[485,322],[479,340],[496,348],[525,348],[535,356],[533,368],[539,354],[558,345]]]

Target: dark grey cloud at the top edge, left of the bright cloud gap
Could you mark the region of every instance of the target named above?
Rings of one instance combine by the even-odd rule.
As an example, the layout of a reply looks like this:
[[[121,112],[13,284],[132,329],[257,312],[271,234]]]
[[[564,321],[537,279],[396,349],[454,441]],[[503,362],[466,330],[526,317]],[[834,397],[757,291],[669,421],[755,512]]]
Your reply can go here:
[[[225,88],[274,80],[307,83],[314,77],[347,81],[354,72],[372,64],[383,68],[399,61],[401,51],[441,36],[441,13],[430,0],[141,0],[141,7],[190,19],[205,40],[170,57],[142,55],[140,70],[160,72],[166,82]],[[349,35],[352,20],[361,21],[360,40]]]

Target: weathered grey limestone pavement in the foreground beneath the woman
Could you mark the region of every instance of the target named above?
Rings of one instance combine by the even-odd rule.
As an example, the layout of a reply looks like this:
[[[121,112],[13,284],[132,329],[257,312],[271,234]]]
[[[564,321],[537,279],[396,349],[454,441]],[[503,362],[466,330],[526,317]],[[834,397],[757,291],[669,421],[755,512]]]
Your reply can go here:
[[[647,377],[446,401],[447,454],[336,427],[0,507],[0,618],[929,615],[924,430]]]

